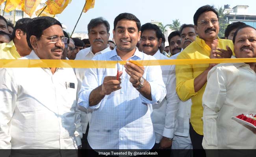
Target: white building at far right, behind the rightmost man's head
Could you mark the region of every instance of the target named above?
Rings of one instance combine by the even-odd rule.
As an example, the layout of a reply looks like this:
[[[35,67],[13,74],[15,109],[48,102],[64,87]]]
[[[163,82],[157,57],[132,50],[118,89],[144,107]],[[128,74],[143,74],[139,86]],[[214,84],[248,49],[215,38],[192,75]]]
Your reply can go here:
[[[256,15],[249,13],[249,5],[236,5],[232,9],[230,5],[224,5],[224,17],[228,24],[232,22],[244,22],[256,28]]]

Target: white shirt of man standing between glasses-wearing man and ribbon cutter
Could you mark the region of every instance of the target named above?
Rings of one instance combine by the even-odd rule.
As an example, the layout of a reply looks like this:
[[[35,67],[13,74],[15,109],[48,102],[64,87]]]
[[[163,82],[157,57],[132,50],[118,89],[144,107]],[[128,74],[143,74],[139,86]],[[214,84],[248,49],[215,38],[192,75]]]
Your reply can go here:
[[[80,50],[76,54],[75,60],[91,60],[94,56],[111,51],[111,49],[109,49],[109,45],[107,44],[107,48],[102,51],[99,51],[95,54],[93,54],[92,51],[93,51],[92,47],[88,47],[88,48]],[[82,82],[85,77],[85,71],[86,71],[85,68],[75,68],[76,78],[78,81],[76,100],[78,100],[78,92],[81,89]],[[83,133],[85,133],[88,122],[90,123],[90,120],[91,120],[91,110],[85,110],[84,108],[81,108],[80,106],[78,106],[78,108],[82,111],[81,112],[81,123],[83,126]]]

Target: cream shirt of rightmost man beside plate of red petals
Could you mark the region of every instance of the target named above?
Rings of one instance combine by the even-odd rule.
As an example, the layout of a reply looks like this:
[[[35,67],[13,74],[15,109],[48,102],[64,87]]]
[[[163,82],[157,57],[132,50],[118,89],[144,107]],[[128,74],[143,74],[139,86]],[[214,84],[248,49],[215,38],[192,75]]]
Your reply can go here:
[[[256,149],[256,130],[231,119],[256,114],[256,74],[245,63],[214,66],[202,98],[204,149]]]

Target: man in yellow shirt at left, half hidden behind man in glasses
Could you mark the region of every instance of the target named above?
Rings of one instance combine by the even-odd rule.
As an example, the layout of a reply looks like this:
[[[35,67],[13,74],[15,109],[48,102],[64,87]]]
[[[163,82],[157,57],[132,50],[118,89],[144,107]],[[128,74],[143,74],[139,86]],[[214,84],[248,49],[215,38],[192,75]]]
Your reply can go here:
[[[22,18],[17,21],[11,42],[0,44],[0,59],[18,59],[30,54],[32,50],[26,40],[26,28],[31,20],[31,18]]]

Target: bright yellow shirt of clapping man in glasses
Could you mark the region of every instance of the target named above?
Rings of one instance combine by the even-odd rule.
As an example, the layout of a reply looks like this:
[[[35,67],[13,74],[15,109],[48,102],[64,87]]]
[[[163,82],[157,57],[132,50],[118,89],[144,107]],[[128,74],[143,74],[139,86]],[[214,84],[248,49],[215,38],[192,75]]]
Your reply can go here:
[[[231,40],[218,38],[218,46],[226,49],[229,46],[234,52],[234,45]],[[207,59],[210,58],[211,47],[198,36],[194,42],[184,49],[177,59]],[[234,54],[234,53],[233,53]],[[191,98],[191,119],[193,129],[200,135],[203,135],[203,107],[202,96],[206,84],[198,91],[194,89],[194,79],[208,68],[209,64],[184,64],[176,65],[176,92],[181,100],[185,101]]]

